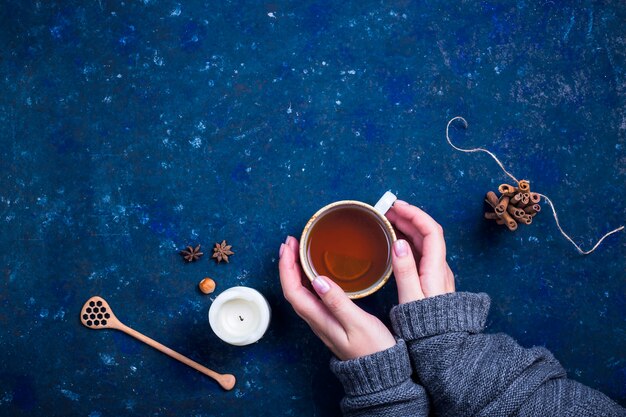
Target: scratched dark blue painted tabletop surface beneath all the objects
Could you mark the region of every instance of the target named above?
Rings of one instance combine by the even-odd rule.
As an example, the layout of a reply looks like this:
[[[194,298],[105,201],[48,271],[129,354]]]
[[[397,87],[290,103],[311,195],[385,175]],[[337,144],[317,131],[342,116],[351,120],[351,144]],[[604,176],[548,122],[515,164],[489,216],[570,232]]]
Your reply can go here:
[[[547,212],[515,234],[487,224],[482,196],[506,178],[443,136],[465,116],[455,140],[531,179],[585,247],[623,223],[626,6],[450,4],[4,2],[0,414],[336,415],[277,250],[323,204],[388,188],[444,225],[458,288],[493,297],[490,331],[626,404],[624,236],[580,257]],[[221,239],[229,265],[177,255]],[[212,334],[206,275],[266,294],[260,343]],[[394,291],[361,304],[384,316]],[[236,389],[81,327],[94,294]]]

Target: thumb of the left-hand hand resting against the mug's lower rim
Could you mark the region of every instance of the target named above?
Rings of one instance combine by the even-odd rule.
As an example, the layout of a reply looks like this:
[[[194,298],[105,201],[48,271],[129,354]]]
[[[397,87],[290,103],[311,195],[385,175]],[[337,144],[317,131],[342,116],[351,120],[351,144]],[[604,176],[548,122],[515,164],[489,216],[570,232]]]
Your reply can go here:
[[[339,285],[324,276],[315,278],[312,284],[322,303],[346,331],[358,327],[365,312],[348,298]]]

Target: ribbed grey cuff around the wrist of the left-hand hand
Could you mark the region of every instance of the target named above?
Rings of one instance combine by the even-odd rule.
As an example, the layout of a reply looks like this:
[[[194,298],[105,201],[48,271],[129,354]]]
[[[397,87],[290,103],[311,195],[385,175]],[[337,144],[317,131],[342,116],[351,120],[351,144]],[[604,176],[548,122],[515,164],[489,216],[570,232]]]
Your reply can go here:
[[[333,357],[330,369],[347,395],[366,395],[394,387],[411,376],[411,362],[404,340],[382,352],[340,361]]]

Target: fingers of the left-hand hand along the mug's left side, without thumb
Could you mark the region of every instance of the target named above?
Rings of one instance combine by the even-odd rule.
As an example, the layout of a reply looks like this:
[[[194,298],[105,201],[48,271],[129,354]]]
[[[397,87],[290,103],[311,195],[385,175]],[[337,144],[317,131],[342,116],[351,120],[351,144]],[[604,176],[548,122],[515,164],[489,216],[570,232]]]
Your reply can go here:
[[[296,242],[297,244],[297,242]],[[282,244],[278,261],[280,285],[285,299],[294,311],[311,326],[315,333],[328,333],[334,327],[341,327],[324,304],[302,286],[302,270],[296,263],[297,252],[293,246]]]

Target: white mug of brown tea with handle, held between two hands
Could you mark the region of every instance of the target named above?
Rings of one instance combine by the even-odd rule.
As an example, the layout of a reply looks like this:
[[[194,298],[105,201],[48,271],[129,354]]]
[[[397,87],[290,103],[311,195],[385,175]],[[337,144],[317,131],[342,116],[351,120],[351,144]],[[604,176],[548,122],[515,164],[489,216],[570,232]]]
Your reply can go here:
[[[322,207],[300,238],[300,261],[312,281],[336,282],[352,299],[378,291],[391,276],[396,233],[385,217],[396,196],[386,192],[375,206],[344,200]]]

